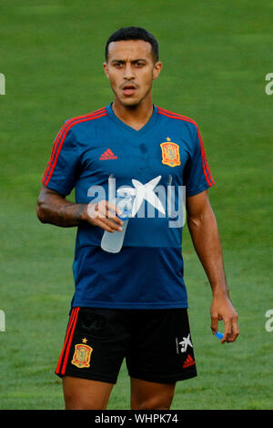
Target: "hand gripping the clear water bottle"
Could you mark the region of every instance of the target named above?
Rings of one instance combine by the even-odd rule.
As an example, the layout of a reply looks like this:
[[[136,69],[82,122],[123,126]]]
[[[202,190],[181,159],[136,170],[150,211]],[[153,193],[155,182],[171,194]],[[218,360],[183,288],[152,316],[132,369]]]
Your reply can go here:
[[[114,211],[114,212],[113,212]],[[89,203],[83,216],[90,224],[99,226],[107,232],[114,233],[116,230],[122,230],[123,221],[116,217],[121,215],[120,209],[115,204],[107,200],[100,200],[96,204]]]

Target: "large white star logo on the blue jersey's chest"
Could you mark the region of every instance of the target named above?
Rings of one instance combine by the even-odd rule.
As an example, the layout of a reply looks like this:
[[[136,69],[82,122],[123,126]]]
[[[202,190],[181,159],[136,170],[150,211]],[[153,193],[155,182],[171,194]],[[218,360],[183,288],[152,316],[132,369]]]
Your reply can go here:
[[[154,189],[157,186],[157,183],[160,180],[160,178],[161,176],[153,178],[150,181],[148,181],[146,184],[143,184],[137,179],[133,178],[132,183],[135,186],[135,188],[122,189],[122,190],[126,190],[126,192],[129,193],[130,195],[135,196],[135,199],[133,202],[133,208],[132,208],[132,217],[136,215],[136,212],[140,208],[144,199],[146,199],[147,202],[149,202],[153,207],[158,209],[158,211],[165,214],[165,209],[160,199],[158,199],[156,193],[154,192]]]

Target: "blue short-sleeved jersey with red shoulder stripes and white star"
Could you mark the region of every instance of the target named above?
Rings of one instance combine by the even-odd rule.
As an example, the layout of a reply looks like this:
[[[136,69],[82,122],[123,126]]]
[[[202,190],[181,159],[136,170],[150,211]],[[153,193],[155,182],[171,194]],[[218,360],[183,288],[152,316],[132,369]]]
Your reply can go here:
[[[187,308],[182,201],[214,180],[196,122],[153,107],[139,130],[110,104],[66,120],[56,136],[42,178],[48,189],[63,196],[75,189],[77,203],[111,200],[124,187],[135,192],[120,252],[101,249],[103,229],[77,228],[72,307]]]

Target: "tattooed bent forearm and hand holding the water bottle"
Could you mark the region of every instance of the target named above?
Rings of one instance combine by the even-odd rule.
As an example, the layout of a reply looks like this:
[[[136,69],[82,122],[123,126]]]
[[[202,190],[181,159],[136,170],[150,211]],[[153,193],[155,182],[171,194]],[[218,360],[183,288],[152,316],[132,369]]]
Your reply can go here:
[[[96,204],[77,204],[69,202],[54,190],[44,185],[37,199],[36,213],[42,223],[54,224],[62,228],[72,228],[82,223],[90,223],[110,232],[120,230],[123,222],[109,209],[118,213],[118,209],[106,200]],[[111,218],[111,219],[109,219]]]

